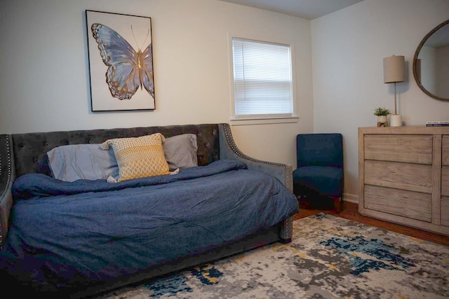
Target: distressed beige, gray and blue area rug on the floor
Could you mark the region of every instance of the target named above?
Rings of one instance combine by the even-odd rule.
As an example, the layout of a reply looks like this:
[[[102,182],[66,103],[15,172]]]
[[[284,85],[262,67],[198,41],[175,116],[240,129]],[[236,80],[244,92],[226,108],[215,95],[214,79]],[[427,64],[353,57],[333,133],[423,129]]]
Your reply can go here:
[[[449,298],[449,247],[328,214],[293,222],[293,242],[100,298]]]

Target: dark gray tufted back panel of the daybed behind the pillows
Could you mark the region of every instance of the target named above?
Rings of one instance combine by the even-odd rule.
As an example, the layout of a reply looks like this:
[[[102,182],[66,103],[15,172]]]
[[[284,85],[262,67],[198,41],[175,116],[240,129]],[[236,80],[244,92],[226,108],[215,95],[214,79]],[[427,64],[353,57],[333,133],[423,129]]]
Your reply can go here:
[[[29,173],[50,175],[47,152],[57,146],[67,144],[101,144],[103,141],[111,138],[139,137],[157,132],[165,137],[187,133],[196,134],[199,165],[208,165],[210,162],[220,159],[220,141],[217,124],[12,134],[16,176]]]

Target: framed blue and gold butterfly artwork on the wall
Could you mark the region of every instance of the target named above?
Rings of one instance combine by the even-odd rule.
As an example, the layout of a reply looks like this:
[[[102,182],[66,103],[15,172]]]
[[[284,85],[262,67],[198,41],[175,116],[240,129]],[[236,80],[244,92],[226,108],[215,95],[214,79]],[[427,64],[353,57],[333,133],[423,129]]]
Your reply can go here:
[[[92,111],[154,110],[152,19],[86,10]]]

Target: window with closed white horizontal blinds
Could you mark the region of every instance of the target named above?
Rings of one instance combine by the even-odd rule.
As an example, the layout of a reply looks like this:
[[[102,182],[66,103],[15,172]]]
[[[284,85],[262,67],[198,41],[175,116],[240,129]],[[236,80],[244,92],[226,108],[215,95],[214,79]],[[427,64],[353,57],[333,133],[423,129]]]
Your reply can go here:
[[[290,46],[232,39],[235,119],[293,116]]]

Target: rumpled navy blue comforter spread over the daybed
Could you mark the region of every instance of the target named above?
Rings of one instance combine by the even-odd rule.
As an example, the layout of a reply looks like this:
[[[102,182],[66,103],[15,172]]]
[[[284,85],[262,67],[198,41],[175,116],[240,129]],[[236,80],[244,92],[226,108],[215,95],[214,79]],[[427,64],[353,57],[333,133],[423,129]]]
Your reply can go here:
[[[234,160],[119,183],[25,174],[13,195],[0,267],[60,286],[201,253],[298,211],[279,181]]]

